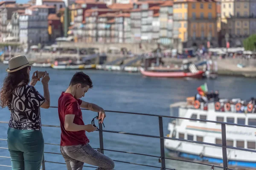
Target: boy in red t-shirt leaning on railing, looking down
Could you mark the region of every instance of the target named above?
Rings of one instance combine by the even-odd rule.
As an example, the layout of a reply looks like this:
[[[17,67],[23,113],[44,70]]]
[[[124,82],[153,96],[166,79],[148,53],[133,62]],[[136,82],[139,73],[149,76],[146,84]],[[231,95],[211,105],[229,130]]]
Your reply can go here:
[[[93,88],[90,77],[83,72],[77,72],[70,85],[58,99],[58,114],[61,122],[61,154],[65,159],[67,170],[82,170],[84,163],[98,166],[97,170],[113,170],[114,162],[108,156],[94,150],[85,131],[97,129],[91,124],[84,125],[80,108],[99,113],[99,123],[105,119],[105,111],[80,98]]]

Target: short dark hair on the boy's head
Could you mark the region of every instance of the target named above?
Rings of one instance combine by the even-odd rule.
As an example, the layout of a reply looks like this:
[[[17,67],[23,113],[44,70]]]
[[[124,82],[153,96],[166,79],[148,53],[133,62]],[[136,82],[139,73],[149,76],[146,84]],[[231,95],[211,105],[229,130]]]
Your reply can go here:
[[[76,85],[78,83],[82,85],[82,88],[84,88],[86,85],[89,85],[89,88],[93,88],[92,80],[87,74],[84,74],[84,72],[82,71],[76,72],[76,74],[73,75],[70,81],[70,85]]]

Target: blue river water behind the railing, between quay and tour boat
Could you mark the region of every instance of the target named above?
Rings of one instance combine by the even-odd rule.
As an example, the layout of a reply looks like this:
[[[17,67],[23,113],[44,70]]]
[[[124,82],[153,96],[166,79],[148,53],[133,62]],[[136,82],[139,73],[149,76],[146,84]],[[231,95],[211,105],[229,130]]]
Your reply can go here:
[[[5,69],[8,65],[0,64],[0,83],[7,75]],[[45,68],[33,68],[32,72],[44,71]],[[51,95],[51,106],[58,105],[58,97],[61,91],[65,91],[69,85],[70,79],[76,70],[55,70],[46,68],[51,77],[49,81],[49,91]],[[174,102],[185,101],[186,97],[194,96],[196,88],[207,82],[209,91],[219,90],[221,98],[242,98],[250,99],[256,96],[256,79],[244,77],[218,77],[215,80],[198,79],[168,79],[143,77],[140,73],[122,73],[108,72],[99,70],[84,70],[93,81],[93,89],[90,89],[82,98],[87,102],[95,103],[105,110],[128,111],[151,113],[159,115],[169,115],[169,105]],[[35,86],[37,90],[43,93],[41,82]],[[106,113],[105,130],[116,130],[130,133],[141,133],[147,135],[159,136],[157,117],[129,115],[121,113]],[[95,112],[83,111],[85,124],[90,124]],[[9,121],[9,111],[7,108],[0,110],[0,121]],[[56,108],[41,109],[42,124],[59,125],[58,110]],[[167,130],[170,119],[163,118],[164,135],[169,133]],[[0,138],[6,139],[8,125],[0,124]],[[43,127],[45,143],[60,143],[61,130],[58,127]],[[99,147],[99,133],[87,133],[92,147]],[[135,153],[145,153],[149,155],[160,156],[159,139],[130,136],[125,134],[103,133],[104,148],[110,150],[121,150]],[[0,147],[7,147],[6,141],[0,141]],[[60,153],[59,146],[45,145],[45,152]],[[127,153],[117,153],[105,151],[105,155],[114,160],[133,162],[137,164],[148,164],[160,167],[157,158],[138,156]],[[9,156],[6,149],[0,149],[0,156]],[[166,150],[166,156],[168,151]],[[61,155],[45,154],[45,160],[64,163]],[[0,158],[0,164],[11,165],[8,158]],[[184,163],[181,161],[166,160],[168,168],[176,170],[209,170],[209,167]],[[11,170],[11,167],[1,167],[0,170]],[[46,163],[46,170],[65,170],[63,164]],[[93,169],[84,167],[84,169]],[[134,164],[125,164],[115,162],[116,170],[156,170],[153,167],[144,167]],[[216,168],[215,168],[216,169]]]

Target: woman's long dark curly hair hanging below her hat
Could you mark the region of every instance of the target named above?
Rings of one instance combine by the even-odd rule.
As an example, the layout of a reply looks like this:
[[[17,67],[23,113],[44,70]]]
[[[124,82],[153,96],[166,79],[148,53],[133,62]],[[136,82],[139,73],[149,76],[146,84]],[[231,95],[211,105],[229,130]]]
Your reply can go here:
[[[12,92],[17,88],[20,82],[22,85],[29,84],[29,74],[27,72],[28,67],[22,68],[18,71],[8,73],[3,81],[3,87],[0,91],[0,107],[5,108],[8,106],[9,102],[12,102]]]

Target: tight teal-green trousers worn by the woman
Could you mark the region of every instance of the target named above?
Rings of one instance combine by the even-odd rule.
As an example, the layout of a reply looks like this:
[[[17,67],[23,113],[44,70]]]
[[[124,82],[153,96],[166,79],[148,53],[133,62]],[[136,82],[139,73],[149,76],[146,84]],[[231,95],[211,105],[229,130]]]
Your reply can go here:
[[[7,143],[12,170],[40,170],[44,155],[44,138],[41,130],[8,128]]]

